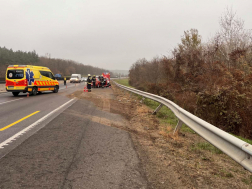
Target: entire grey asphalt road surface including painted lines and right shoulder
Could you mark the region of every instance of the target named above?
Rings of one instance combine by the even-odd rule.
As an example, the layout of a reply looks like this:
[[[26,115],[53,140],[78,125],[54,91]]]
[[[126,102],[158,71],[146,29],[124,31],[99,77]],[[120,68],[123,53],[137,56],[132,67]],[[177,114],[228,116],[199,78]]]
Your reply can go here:
[[[130,135],[95,120],[115,114],[68,97],[83,86],[0,94],[1,189],[147,188]]]

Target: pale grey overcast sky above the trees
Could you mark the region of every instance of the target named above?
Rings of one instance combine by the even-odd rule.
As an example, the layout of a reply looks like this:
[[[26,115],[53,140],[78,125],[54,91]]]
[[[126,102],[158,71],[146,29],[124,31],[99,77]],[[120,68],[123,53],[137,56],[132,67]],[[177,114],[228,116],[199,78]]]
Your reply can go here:
[[[252,0],[0,0],[0,46],[129,69],[168,55],[185,30],[206,41],[227,7],[252,29]]]

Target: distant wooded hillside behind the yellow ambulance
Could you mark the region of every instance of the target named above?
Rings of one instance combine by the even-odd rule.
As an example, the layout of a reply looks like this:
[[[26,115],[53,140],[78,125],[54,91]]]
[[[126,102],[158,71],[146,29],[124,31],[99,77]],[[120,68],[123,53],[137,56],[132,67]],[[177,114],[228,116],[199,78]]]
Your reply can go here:
[[[36,65],[50,68],[54,74],[70,76],[73,73],[101,75],[106,69],[84,65],[73,60],[64,60],[48,57],[39,57],[36,51],[23,52],[13,51],[6,47],[0,47],[0,78],[5,78],[6,69],[9,65]]]

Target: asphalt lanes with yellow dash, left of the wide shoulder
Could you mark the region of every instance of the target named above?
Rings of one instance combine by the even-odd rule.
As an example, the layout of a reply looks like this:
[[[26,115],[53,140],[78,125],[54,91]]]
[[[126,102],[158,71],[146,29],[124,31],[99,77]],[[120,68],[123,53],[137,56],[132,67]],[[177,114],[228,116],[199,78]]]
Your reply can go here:
[[[59,115],[75,102],[67,97],[76,90],[83,88],[85,83],[68,84],[67,88],[60,86],[58,93],[45,92],[36,96],[26,97],[26,94],[20,94],[14,97],[12,93],[5,93],[0,95],[0,158],[5,156],[9,151],[18,146],[26,138],[41,129],[53,118]],[[63,104],[69,102],[52,115],[46,117],[40,124],[27,131],[22,136],[16,137],[14,142],[7,143],[8,145],[1,146],[6,140],[14,136],[18,132],[24,130],[29,125],[32,125],[37,120],[43,118],[50,112],[59,108]],[[28,117],[27,117],[28,116]],[[5,144],[5,143],[4,143]]]

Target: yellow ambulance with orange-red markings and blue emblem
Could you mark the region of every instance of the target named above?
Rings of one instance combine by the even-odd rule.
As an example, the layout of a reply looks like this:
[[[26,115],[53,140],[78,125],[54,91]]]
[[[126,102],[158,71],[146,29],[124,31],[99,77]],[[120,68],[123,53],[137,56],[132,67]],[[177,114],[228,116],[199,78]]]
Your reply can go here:
[[[49,68],[32,65],[10,65],[6,70],[6,91],[18,96],[20,92],[36,95],[42,91],[59,90],[59,82]]]

